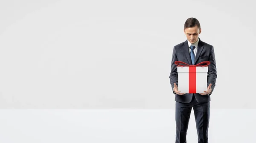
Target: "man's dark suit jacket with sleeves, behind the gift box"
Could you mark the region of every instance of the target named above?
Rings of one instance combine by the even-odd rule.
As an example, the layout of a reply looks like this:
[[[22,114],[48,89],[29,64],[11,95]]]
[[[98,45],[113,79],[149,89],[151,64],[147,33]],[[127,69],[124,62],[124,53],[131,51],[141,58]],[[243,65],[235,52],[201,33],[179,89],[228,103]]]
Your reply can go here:
[[[206,42],[201,41],[198,38],[198,49],[195,56],[195,64],[204,61],[210,61],[211,63],[208,65],[208,73],[207,73],[207,87],[209,84],[212,84],[212,92],[215,87],[215,82],[217,79],[217,70],[216,70],[216,62],[215,62],[215,54],[214,48],[212,45],[207,44]],[[189,45],[188,41],[182,42],[173,48],[172,52],[172,64],[171,64],[171,73],[170,73],[170,82],[172,85],[172,89],[174,88],[174,83],[178,86],[178,73],[177,73],[177,65],[174,63],[175,61],[182,61],[189,65],[192,64],[190,53],[189,53]],[[178,86],[179,87],[179,86]],[[174,91],[173,91],[174,93]],[[175,93],[174,93],[175,94]],[[195,98],[199,103],[211,101],[210,95],[201,95],[199,93],[195,93]],[[192,100],[193,93],[186,93],[183,95],[175,94],[175,101],[182,103],[189,103]]]

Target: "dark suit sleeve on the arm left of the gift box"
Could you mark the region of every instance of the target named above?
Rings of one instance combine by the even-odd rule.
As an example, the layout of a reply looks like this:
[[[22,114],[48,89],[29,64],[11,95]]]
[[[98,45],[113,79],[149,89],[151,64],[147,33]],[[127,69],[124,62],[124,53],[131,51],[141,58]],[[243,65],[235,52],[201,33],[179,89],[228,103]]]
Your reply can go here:
[[[172,52],[171,73],[170,73],[170,76],[169,76],[170,83],[172,85],[173,94],[175,94],[175,92],[173,91],[174,83],[176,83],[177,86],[178,86],[178,73],[177,73],[177,65],[174,63],[175,61],[177,61],[176,47],[173,48],[173,52]]]

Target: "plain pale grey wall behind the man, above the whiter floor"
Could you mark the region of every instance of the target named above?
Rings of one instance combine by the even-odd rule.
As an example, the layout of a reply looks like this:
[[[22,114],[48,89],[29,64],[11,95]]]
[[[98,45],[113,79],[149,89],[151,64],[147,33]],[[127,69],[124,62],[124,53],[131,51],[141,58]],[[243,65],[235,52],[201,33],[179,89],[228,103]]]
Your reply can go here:
[[[255,108],[253,1],[0,1],[0,108],[175,108],[184,22],[215,48],[212,109]]]

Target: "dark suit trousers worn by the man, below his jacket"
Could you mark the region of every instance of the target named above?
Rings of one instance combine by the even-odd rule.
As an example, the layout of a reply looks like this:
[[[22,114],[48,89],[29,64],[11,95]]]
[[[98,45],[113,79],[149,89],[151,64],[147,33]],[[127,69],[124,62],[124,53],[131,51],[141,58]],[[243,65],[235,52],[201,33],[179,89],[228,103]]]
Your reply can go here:
[[[180,95],[182,96],[182,95]],[[209,95],[203,95],[209,96]],[[186,143],[191,109],[193,107],[198,133],[198,143],[208,143],[208,126],[210,117],[210,102],[198,103],[193,94],[190,103],[177,102],[175,104],[176,142]]]

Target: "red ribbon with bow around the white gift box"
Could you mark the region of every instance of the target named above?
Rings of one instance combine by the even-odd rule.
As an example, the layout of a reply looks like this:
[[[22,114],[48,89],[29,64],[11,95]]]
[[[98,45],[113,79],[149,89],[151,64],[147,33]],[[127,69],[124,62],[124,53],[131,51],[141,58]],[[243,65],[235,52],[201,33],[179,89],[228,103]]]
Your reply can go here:
[[[189,67],[189,93],[196,93],[196,67],[206,67],[210,64],[209,61],[204,61],[196,65],[189,65],[185,62],[175,61],[175,64],[178,67]],[[186,65],[180,65],[186,64]],[[206,64],[206,65],[201,65]]]

